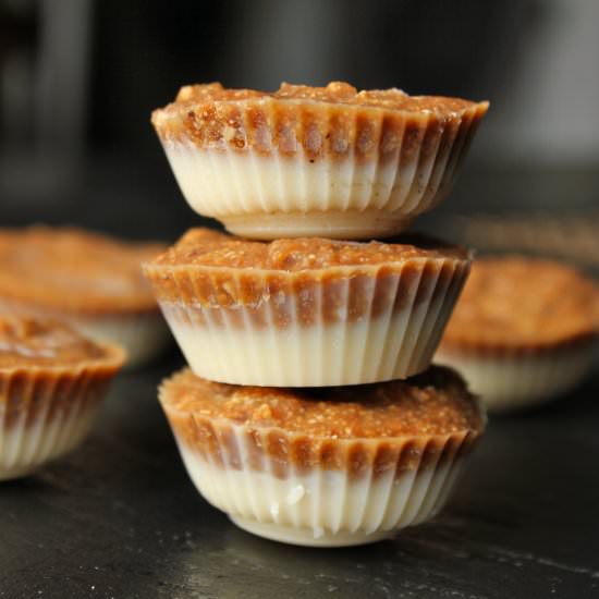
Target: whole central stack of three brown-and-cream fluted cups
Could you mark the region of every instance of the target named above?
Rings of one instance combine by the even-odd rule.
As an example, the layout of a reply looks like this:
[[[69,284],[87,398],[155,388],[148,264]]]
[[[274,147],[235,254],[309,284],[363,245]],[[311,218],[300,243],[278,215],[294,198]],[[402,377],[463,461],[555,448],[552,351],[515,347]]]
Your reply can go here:
[[[192,229],[144,265],[190,366],[159,399],[194,484],[242,528],[359,545],[448,499],[485,428],[430,366],[470,255],[398,235],[447,195],[487,108],[211,84],[155,111],[183,195],[233,233]]]

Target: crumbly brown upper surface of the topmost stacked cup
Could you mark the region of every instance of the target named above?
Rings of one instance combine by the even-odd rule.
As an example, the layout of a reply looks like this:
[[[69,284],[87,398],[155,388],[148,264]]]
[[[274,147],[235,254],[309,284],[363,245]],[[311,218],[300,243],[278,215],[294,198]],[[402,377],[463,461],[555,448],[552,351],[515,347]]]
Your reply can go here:
[[[372,89],[358,91],[343,82],[331,82],[327,87],[291,85],[282,83],[277,91],[255,89],[227,89],[220,83],[186,85],[176,95],[173,103],[164,110],[176,111],[181,108],[204,102],[243,102],[245,100],[274,99],[288,102],[315,102],[347,105],[408,112],[460,112],[476,102],[461,98],[443,96],[409,96],[401,89]]]

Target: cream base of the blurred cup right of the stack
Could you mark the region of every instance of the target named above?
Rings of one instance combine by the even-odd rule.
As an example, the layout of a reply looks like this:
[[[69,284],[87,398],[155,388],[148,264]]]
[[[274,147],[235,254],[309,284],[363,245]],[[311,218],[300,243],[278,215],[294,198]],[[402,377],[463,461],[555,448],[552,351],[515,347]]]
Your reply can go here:
[[[592,367],[592,342],[529,355],[474,356],[441,346],[435,362],[455,368],[489,412],[510,412],[559,398]]]

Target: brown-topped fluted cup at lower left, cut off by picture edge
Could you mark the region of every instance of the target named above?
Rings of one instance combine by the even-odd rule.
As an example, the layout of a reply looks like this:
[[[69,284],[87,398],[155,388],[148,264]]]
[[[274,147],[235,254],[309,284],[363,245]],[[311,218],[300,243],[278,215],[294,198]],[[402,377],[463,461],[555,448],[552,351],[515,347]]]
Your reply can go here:
[[[0,317],[0,480],[78,445],[124,359],[65,325]]]

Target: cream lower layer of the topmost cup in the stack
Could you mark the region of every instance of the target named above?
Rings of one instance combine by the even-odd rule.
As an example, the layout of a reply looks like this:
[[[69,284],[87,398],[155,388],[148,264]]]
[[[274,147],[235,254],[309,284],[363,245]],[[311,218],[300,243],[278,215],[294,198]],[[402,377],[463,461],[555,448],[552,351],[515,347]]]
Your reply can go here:
[[[460,160],[449,151],[398,160],[358,162],[353,156],[310,161],[253,151],[199,149],[164,142],[183,196],[198,213],[245,237],[395,235],[448,194]]]

